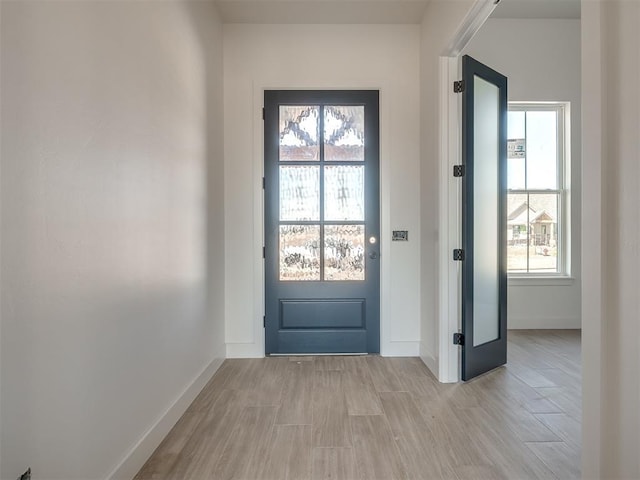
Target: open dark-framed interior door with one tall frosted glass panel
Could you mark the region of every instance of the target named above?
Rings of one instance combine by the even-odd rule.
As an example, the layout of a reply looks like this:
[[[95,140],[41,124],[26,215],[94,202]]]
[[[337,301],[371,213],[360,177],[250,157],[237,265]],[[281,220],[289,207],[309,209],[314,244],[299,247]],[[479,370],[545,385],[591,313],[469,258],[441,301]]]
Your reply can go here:
[[[507,361],[507,78],[462,59],[463,177],[461,377]]]

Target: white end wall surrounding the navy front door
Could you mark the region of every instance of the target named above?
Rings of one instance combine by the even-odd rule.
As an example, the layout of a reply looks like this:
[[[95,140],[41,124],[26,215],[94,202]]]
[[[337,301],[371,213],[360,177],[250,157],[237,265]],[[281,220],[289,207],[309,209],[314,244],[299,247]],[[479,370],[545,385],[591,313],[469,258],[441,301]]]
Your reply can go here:
[[[261,107],[264,89],[297,88],[380,89],[381,353],[418,354],[419,41],[417,25],[224,26],[229,356],[264,354]]]

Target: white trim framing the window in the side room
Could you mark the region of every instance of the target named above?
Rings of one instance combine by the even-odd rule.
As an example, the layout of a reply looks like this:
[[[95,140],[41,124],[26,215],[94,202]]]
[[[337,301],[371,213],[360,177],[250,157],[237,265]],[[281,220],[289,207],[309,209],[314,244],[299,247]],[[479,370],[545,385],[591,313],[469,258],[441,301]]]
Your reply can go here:
[[[569,102],[519,102],[510,101],[509,111],[549,111],[558,112],[557,142],[560,158],[558,161],[558,189],[556,190],[507,190],[507,193],[559,193],[558,206],[558,271],[557,272],[509,272],[509,285],[572,285],[571,276],[571,106]]]

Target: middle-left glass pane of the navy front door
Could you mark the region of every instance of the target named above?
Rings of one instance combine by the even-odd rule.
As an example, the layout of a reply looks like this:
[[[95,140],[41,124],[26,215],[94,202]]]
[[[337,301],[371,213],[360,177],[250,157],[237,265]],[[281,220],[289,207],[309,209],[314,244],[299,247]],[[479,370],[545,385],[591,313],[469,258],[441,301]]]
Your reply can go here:
[[[280,167],[280,220],[320,220],[320,167]]]

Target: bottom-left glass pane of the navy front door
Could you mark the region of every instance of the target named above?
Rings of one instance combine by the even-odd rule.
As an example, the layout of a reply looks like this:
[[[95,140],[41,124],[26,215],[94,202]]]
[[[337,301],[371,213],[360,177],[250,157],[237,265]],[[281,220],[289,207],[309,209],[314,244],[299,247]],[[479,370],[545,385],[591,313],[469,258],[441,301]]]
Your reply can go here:
[[[320,280],[320,225],[280,225],[280,280]]]

